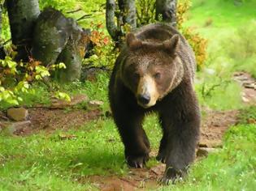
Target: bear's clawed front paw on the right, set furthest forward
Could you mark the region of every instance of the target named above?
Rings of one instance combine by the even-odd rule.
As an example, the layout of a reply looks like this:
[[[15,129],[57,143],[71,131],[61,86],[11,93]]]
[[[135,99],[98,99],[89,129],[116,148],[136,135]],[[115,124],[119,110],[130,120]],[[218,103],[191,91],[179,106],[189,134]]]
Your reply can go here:
[[[176,170],[175,168],[167,168],[163,178],[161,178],[159,182],[163,185],[175,184],[176,180],[182,180],[183,176],[184,171]]]

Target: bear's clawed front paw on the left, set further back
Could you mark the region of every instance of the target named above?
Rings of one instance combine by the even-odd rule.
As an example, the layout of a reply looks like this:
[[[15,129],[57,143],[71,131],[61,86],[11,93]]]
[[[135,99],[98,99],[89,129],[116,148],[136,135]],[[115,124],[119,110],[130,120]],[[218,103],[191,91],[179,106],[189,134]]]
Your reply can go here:
[[[145,155],[128,155],[126,157],[127,163],[131,168],[143,168],[145,163],[150,159],[149,154]]]

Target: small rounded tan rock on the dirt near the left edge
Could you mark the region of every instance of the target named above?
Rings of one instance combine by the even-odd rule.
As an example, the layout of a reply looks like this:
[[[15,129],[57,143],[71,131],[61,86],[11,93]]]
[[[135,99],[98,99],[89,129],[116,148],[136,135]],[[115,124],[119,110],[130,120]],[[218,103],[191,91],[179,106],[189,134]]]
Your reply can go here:
[[[14,121],[26,121],[28,120],[28,110],[25,108],[9,108],[7,117]]]

